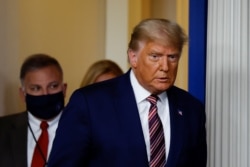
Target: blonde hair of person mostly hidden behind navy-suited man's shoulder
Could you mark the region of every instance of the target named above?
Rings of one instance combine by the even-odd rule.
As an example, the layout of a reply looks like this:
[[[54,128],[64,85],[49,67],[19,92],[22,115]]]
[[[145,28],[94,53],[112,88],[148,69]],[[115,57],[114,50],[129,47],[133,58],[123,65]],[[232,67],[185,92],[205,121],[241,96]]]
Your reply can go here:
[[[101,75],[111,73],[115,77],[123,74],[122,69],[114,61],[99,60],[92,64],[87,70],[80,87],[84,87],[96,82]]]

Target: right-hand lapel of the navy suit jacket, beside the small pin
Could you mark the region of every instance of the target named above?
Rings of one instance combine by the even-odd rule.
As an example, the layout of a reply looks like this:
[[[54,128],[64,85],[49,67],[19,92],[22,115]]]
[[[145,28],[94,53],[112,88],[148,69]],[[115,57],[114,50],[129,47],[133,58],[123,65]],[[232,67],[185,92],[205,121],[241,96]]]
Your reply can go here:
[[[169,100],[169,113],[170,113],[170,126],[171,126],[171,136],[170,136],[170,149],[167,160],[167,167],[176,166],[178,161],[178,156],[182,150],[183,145],[183,134],[185,131],[184,121],[183,121],[183,111],[180,110],[178,105],[178,97],[173,88],[167,91]]]

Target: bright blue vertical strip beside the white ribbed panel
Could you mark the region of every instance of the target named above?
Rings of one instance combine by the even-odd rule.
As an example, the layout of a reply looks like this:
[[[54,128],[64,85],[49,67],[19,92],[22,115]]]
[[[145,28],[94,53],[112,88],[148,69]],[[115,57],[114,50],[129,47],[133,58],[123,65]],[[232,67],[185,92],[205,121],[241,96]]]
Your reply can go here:
[[[205,104],[207,0],[189,0],[188,90]]]

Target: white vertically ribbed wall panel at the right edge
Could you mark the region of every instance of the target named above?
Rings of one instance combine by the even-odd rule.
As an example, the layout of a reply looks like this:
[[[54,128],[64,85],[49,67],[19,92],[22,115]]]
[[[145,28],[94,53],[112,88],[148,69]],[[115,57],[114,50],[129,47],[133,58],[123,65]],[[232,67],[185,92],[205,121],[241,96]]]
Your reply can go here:
[[[208,1],[209,167],[250,166],[250,3]]]

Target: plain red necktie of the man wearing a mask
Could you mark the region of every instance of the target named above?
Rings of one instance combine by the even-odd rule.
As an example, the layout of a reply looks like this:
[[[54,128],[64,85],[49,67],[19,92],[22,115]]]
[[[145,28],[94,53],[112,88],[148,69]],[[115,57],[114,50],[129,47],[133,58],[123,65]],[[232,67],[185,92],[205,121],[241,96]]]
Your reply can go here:
[[[47,152],[48,152],[48,123],[46,121],[42,121],[40,124],[40,128],[42,133],[36,143],[36,147],[34,149],[33,159],[31,162],[31,167],[45,167],[47,162]]]

